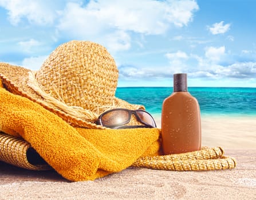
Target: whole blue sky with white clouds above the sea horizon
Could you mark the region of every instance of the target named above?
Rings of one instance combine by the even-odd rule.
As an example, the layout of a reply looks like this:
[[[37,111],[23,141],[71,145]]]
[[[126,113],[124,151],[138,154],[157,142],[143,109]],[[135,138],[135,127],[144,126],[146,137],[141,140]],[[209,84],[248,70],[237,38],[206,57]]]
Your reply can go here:
[[[256,1],[0,0],[0,62],[38,70],[70,40],[107,47],[119,87],[256,87]]]

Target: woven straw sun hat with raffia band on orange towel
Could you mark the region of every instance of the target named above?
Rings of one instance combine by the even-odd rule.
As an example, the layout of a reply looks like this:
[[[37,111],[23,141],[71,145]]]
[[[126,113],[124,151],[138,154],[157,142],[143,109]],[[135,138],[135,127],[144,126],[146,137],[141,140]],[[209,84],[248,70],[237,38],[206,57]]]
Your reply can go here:
[[[104,129],[94,122],[109,109],[145,109],[115,97],[118,70],[105,47],[70,41],[57,47],[40,70],[0,63],[0,78],[11,93],[22,95],[72,126]]]

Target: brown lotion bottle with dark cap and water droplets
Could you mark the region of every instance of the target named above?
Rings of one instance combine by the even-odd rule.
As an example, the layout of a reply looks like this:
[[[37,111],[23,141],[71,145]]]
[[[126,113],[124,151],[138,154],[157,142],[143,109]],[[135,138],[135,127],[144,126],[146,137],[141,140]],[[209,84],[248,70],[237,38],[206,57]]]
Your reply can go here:
[[[174,74],[174,92],[162,107],[164,154],[201,149],[201,119],[198,101],[187,90],[187,74]]]

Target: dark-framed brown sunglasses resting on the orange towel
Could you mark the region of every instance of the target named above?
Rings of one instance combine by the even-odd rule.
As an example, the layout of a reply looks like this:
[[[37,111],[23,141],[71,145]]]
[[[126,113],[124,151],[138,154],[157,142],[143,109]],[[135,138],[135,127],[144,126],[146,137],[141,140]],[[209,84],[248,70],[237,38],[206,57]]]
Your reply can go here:
[[[137,121],[142,123],[140,126],[124,126],[131,121],[132,114]],[[97,119],[97,125],[109,127],[111,129],[131,129],[131,128],[155,128],[156,122],[145,110],[112,109],[105,111]]]

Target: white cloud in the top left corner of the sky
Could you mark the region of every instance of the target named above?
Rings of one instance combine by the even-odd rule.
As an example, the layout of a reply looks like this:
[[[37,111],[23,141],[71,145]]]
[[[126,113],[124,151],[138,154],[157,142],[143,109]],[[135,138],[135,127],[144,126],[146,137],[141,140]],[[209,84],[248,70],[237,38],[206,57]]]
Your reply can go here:
[[[52,25],[56,18],[51,0],[0,0],[0,6],[8,10],[10,22],[17,25],[22,18],[37,25]]]

